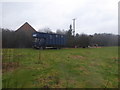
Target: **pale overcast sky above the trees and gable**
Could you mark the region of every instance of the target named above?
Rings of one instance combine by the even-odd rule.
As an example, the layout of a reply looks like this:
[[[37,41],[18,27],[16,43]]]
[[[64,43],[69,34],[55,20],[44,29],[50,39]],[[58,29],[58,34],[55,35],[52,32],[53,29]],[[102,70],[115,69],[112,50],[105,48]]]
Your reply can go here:
[[[28,22],[36,30],[48,27],[55,32],[68,30],[76,18],[76,33],[118,33],[119,0],[7,1],[0,3],[3,28],[16,30]]]

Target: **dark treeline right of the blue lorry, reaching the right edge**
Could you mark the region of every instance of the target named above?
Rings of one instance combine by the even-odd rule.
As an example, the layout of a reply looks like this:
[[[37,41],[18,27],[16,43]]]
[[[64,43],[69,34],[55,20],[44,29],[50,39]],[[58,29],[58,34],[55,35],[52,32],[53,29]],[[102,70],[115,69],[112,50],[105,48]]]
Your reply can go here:
[[[68,47],[93,47],[93,46],[120,46],[120,35],[114,34],[76,34],[72,35],[72,29],[66,32]]]

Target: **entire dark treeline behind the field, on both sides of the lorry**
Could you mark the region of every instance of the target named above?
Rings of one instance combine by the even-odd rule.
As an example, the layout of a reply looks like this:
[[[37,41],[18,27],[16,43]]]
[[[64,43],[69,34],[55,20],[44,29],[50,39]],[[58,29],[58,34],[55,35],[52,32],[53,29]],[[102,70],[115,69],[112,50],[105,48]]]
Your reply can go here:
[[[46,30],[47,33],[53,33]],[[93,46],[120,46],[120,35],[114,34],[72,34],[72,29],[57,30],[57,34],[65,34],[67,38],[66,47],[93,47]],[[3,48],[31,48],[33,38],[24,32],[15,32],[9,29],[2,29],[2,47]]]

